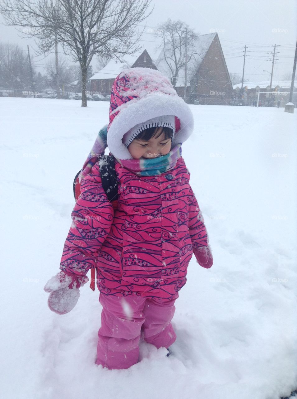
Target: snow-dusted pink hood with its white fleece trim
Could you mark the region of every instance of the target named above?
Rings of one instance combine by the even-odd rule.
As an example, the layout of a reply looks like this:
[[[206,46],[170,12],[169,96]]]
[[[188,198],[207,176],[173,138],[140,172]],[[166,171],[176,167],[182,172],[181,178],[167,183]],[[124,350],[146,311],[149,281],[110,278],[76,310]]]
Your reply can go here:
[[[193,132],[193,114],[170,81],[150,68],[122,71],[113,82],[107,126],[107,146],[119,159],[132,159],[123,144],[124,134],[138,123],[162,115],[174,115],[176,133],[173,148]]]

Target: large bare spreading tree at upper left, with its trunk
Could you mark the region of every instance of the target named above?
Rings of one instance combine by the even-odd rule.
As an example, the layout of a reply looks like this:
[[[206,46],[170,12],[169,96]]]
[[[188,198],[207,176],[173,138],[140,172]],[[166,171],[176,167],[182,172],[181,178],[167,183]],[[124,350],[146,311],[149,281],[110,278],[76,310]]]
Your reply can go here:
[[[79,62],[82,75],[82,107],[86,107],[87,69],[94,55],[121,60],[133,54],[151,0],[2,0],[0,12],[6,24],[27,28],[22,34],[38,39],[41,53],[61,43],[65,54]]]

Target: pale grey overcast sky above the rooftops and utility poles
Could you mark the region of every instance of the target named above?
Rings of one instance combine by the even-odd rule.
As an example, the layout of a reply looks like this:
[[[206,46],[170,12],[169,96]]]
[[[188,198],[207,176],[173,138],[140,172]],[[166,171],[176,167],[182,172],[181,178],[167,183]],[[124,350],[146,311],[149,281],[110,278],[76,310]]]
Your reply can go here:
[[[253,82],[269,80],[273,47],[277,45],[274,80],[280,80],[293,69],[297,39],[297,0],[158,0],[147,18],[147,29],[142,44],[153,52],[156,46],[154,29],[167,18],[186,22],[198,34],[217,32],[223,48],[229,73],[242,74],[243,50],[246,45],[245,79]],[[18,43],[23,51],[29,44],[31,55],[36,48],[34,40],[18,36],[14,27],[5,26],[0,16],[0,40]],[[145,22],[141,24],[144,26]],[[61,49],[60,49],[61,51]],[[63,56],[61,54],[61,56]],[[35,67],[42,67],[53,55],[33,57]],[[92,62],[96,72],[96,59]]]

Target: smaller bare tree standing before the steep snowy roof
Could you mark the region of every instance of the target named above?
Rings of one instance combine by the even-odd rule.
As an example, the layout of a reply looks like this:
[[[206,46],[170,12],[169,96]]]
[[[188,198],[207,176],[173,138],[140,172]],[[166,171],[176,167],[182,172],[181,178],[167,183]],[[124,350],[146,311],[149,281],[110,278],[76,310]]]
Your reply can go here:
[[[165,61],[171,83],[175,87],[178,73],[186,65],[186,46],[188,52],[187,62],[189,62],[192,57],[192,54],[190,56],[189,54],[193,51],[198,34],[190,29],[185,22],[180,20],[172,21],[170,18],[166,22],[159,24],[157,28],[154,35],[162,41],[162,56],[158,61]]]

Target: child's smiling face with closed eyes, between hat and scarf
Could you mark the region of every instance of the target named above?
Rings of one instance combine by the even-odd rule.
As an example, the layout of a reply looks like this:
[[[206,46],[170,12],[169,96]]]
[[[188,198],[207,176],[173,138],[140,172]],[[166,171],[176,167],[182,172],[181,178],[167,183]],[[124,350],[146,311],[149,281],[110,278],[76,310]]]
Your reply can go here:
[[[130,143],[128,150],[134,159],[151,159],[168,154],[171,148],[171,138],[165,138],[164,132],[160,134],[160,129],[162,130],[162,127],[159,127],[156,134],[149,140],[135,138]],[[160,136],[156,138],[158,134]]]

